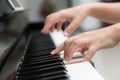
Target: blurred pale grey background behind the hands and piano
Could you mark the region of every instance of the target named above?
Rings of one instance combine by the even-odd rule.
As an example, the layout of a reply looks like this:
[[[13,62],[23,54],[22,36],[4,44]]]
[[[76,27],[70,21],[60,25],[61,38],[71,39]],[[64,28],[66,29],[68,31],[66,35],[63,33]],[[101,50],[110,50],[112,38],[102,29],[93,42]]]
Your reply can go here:
[[[20,0],[30,24],[44,23],[46,16],[58,10],[91,2],[116,2],[117,0]],[[99,29],[109,24],[88,17],[82,25],[73,33]],[[98,33],[100,34],[100,33]],[[97,34],[96,34],[97,35]],[[106,80],[120,80],[120,45],[112,49],[101,50],[93,57],[96,70]],[[87,76],[86,76],[87,77]]]

